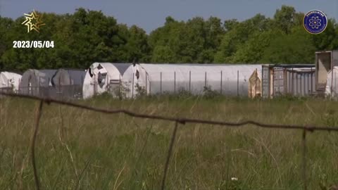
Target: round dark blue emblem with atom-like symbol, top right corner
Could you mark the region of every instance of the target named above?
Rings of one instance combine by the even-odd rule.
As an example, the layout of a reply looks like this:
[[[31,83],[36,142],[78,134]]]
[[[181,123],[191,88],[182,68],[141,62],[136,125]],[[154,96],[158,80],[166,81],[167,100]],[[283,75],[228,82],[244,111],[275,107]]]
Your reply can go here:
[[[309,11],[304,15],[303,25],[311,34],[320,34],[327,27],[327,17],[322,11]]]

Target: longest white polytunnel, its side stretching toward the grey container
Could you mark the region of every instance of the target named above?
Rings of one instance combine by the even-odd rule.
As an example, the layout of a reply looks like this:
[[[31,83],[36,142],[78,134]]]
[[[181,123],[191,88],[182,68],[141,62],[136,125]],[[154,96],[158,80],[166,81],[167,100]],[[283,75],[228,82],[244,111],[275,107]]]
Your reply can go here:
[[[136,64],[123,74],[125,96],[189,91],[202,94],[205,89],[229,96],[248,96],[249,78],[262,65],[230,64]],[[134,84],[134,85],[133,85]]]

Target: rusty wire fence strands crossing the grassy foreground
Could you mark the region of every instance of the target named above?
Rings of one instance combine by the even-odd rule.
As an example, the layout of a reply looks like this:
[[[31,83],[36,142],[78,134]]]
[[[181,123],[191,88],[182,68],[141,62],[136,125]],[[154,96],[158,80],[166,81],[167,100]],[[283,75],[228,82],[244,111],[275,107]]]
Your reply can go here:
[[[165,189],[165,179],[168,173],[168,167],[170,164],[170,157],[173,153],[173,146],[175,144],[175,137],[177,134],[177,129],[179,125],[185,125],[186,123],[195,123],[195,124],[205,124],[205,125],[220,125],[223,127],[245,127],[245,125],[255,125],[256,127],[261,127],[265,129],[299,129],[303,131],[301,137],[301,144],[302,144],[302,167],[301,167],[301,175],[303,178],[303,189],[308,189],[308,180],[306,177],[306,134],[308,132],[315,132],[315,131],[326,131],[326,132],[338,132],[338,127],[325,127],[325,126],[315,126],[315,125],[281,125],[281,124],[268,124],[262,122],[256,122],[254,120],[245,120],[242,122],[227,122],[227,121],[215,121],[215,120],[199,120],[199,119],[192,119],[192,118],[173,118],[173,117],[166,117],[161,115],[147,115],[142,113],[134,113],[130,110],[125,109],[104,109],[104,108],[95,108],[92,106],[85,106],[80,103],[70,102],[70,101],[61,101],[58,99],[50,99],[50,98],[42,98],[37,96],[30,96],[25,94],[13,94],[7,92],[1,92],[0,95],[3,96],[10,96],[20,99],[32,99],[35,101],[39,101],[39,106],[35,113],[35,126],[34,132],[32,134],[32,144],[31,144],[31,160],[32,160],[32,167],[35,177],[35,186],[36,189],[41,189],[41,185],[39,182],[39,175],[37,173],[37,165],[35,161],[35,144],[37,141],[37,133],[39,131],[39,122],[40,118],[42,117],[42,108],[44,104],[51,104],[56,103],[58,105],[70,106],[74,108],[81,108],[85,110],[91,110],[98,113],[106,113],[106,114],[117,114],[123,113],[125,115],[129,115],[133,118],[144,118],[144,119],[151,119],[151,120],[164,120],[168,122],[175,122],[175,127],[173,129],[173,134],[171,135],[170,145],[168,147],[168,153],[165,160],[165,165],[163,168],[163,178],[161,181],[161,189]]]

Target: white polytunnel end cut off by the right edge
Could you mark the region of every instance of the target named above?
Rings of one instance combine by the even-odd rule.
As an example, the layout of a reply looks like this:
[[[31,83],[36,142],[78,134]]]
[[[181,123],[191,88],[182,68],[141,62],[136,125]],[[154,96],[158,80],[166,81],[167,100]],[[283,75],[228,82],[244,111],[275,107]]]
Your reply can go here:
[[[327,72],[325,95],[337,97],[338,96],[338,67],[333,67],[332,70]]]

